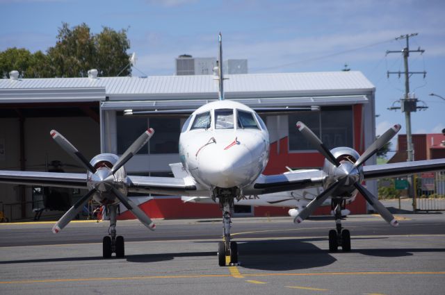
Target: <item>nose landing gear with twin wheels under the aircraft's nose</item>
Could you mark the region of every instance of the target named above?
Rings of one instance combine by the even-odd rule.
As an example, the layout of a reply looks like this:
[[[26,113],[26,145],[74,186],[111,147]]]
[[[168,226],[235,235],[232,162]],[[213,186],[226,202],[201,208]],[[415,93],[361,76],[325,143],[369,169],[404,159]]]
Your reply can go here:
[[[223,235],[224,241],[218,243],[218,264],[225,267],[226,256],[230,256],[229,265],[238,265],[238,244],[230,240],[230,228],[232,227],[232,212],[234,212],[234,198],[220,197],[220,206],[223,210]]]

